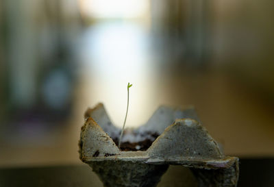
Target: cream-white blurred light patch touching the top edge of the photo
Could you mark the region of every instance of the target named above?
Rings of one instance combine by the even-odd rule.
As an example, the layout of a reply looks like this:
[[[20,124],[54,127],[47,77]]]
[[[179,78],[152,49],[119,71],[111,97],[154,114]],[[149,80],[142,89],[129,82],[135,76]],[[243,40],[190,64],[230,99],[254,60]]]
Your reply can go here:
[[[79,5],[94,18],[140,18],[149,10],[147,0],[79,0]]]

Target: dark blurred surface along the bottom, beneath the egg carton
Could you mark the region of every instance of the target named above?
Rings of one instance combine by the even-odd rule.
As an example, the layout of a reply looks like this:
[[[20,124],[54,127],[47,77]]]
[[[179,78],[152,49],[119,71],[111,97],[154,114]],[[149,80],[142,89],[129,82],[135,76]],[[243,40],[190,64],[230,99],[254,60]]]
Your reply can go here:
[[[182,166],[170,166],[158,186],[186,186],[186,183],[183,184],[182,181],[191,179],[191,176],[186,175],[186,170]],[[74,165],[0,169],[0,187],[9,186],[86,187],[103,185],[89,166]],[[238,186],[273,187],[274,159],[240,159]]]

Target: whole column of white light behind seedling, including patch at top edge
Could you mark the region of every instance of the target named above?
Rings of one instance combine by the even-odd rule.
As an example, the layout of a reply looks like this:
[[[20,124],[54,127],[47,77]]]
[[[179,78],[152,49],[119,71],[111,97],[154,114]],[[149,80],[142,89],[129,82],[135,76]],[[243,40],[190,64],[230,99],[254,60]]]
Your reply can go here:
[[[84,16],[99,18],[86,29],[79,46],[86,83],[84,107],[103,102],[114,124],[121,127],[127,107],[127,82],[130,82],[133,86],[127,127],[142,125],[155,110],[151,103],[156,95],[154,71],[147,52],[149,1],[79,0],[79,6]]]

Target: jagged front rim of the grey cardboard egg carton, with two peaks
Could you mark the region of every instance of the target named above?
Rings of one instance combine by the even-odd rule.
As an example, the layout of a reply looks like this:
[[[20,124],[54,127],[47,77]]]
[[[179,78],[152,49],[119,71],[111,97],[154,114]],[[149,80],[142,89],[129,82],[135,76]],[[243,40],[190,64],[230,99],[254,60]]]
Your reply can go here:
[[[158,110],[161,110],[161,108],[162,106]],[[123,160],[132,162],[145,162],[148,164],[181,164],[184,166],[195,166],[196,168],[202,167],[207,169],[228,168],[232,166],[234,162],[238,162],[238,158],[227,157],[223,155],[219,150],[216,141],[195,119],[175,120],[172,125],[166,127],[164,132],[160,134],[158,138],[156,138],[156,140],[153,142],[151,147],[147,149],[147,151],[120,151],[112,138],[110,138],[110,136],[103,131],[102,127],[98,125],[92,117],[90,117],[96,112],[97,114],[100,114],[99,116],[101,116],[101,118],[105,118],[107,121],[110,121],[102,103],[99,103],[99,105],[97,105],[95,108],[88,109],[85,112],[86,122],[82,127],[79,151],[80,159],[83,162],[88,163],[99,162],[103,160]],[[157,113],[157,110],[155,113]],[[153,118],[153,116],[151,118]],[[195,118],[197,119],[197,117]],[[108,125],[112,126],[112,124]],[[182,130],[184,127],[186,129],[193,128],[192,132],[195,132],[195,129],[199,129],[199,132],[202,133],[203,138],[206,138],[205,140],[208,141],[206,145],[200,145],[196,151],[202,149],[203,147],[209,147],[213,150],[214,153],[211,153],[210,157],[206,155],[207,152],[203,152],[202,155],[195,156],[193,155],[194,152],[192,150],[192,155],[191,153],[186,155],[185,151],[182,151],[183,145],[181,145],[181,147],[180,145],[175,145],[175,148],[177,147],[177,149],[175,149],[176,153],[174,154],[173,150],[171,154],[167,154],[166,150],[171,150],[174,147],[171,147],[172,142],[170,144],[169,142],[166,142],[166,140],[169,140],[169,138],[174,135],[174,132],[179,132],[179,130]],[[201,140],[203,140],[203,138]],[[180,140],[173,139],[173,142],[180,142]],[[162,147],[162,150],[159,151],[160,147]]]

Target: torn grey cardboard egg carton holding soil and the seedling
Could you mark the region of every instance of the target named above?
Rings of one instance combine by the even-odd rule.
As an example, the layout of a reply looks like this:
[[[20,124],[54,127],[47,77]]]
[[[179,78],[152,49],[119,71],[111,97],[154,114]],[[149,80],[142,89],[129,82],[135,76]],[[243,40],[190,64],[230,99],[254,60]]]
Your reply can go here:
[[[238,158],[223,155],[193,108],[161,106],[145,125],[132,130],[132,140],[153,140],[145,151],[116,146],[121,129],[112,125],[102,103],[86,111],[81,130],[79,158],[104,186],[157,186],[169,164],[188,167],[199,186],[237,186]],[[153,138],[151,132],[160,136]]]

